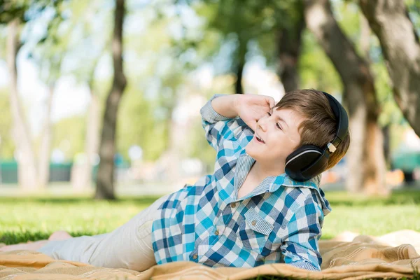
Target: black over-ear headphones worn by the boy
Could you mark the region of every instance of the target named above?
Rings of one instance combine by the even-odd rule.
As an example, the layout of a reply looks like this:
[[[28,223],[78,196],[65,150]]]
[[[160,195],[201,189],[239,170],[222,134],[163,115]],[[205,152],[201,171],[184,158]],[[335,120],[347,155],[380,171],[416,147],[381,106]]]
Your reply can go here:
[[[319,148],[314,145],[303,145],[286,158],[286,174],[295,181],[307,181],[321,174],[327,167],[330,154],[334,153],[339,144],[346,137],[349,130],[349,116],[342,104],[327,92],[323,92],[330,103],[332,112],[337,120],[337,132],[334,140]]]

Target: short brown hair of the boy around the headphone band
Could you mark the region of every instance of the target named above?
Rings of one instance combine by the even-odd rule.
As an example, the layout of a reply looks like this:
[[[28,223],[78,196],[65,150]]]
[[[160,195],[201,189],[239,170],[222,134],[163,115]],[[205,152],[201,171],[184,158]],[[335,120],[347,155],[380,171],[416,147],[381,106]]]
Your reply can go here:
[[[293,90],[286,92],[276,109],[292,109],[300,114],[305,120],[299,125],[300,144],[325,147],[332,141],[337,132],[337,120],[332,113],[328,98],[318,90]],[[337,151],[330,155],[327,169],[337,165],[346,154],[350,146],[350,134],[342,139]]]

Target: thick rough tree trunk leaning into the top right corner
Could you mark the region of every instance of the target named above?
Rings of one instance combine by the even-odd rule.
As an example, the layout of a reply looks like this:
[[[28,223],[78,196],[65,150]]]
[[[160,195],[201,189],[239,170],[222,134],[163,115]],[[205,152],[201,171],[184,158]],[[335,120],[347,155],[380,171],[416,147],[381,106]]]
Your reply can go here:
[[[420,43],[405,2],[360,0],[359,4],[381,43],[395,102],[420,136]]]

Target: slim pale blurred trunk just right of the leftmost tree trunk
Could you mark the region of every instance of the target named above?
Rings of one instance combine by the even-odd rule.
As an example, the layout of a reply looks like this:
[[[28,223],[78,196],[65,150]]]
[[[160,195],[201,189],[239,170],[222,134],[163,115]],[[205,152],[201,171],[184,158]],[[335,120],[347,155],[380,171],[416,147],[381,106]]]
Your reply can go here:
[[[39,148],[39,187],[46,188],[50,179],[50,153],[51,153],[51,104],[54,94],[55,83],[50,84],[47,111],[45,115],[43,132],[41,134],[41,146]]]

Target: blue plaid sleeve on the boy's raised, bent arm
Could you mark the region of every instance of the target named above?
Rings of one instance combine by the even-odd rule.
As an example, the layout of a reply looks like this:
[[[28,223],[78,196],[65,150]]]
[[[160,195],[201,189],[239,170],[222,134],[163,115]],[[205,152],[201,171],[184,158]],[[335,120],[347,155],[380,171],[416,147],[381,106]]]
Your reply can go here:
[[[202,116],[202,126],[206,132],[206,138],[209,144],[218,151],[221,143],[225,139],[233,139],[241,141],[243,137],[238,137],[244,130],[249,128],[241,118],[228,118],[214,111],[211,106],[211,101],[217,97],[224,96],[225,94],[215,94],[200,110]],[[246,135],[250,135],[246,133]],[[246,136],[244,135],[244,136]]]

